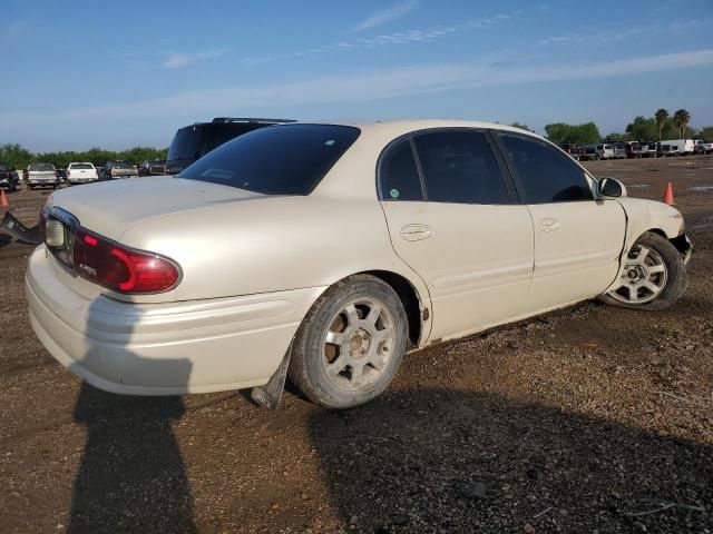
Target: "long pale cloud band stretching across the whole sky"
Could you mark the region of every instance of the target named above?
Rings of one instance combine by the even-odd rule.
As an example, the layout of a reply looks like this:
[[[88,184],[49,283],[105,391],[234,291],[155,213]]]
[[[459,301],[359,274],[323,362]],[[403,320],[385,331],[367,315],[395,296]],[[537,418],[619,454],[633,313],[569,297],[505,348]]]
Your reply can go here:
[[[485,86],[631,76],[702,66],[713,66],[713,49],[599,63],[543,65],[508,69],[494,67],[491,62],[421,65],[282,85],[195,90],[159,99],[75,108],[56,113],[0,113],[0,138],[31,146],[37,142],[39,132],[58,135],[52,132],[61,131],[65,139],[69,136],[86,136],[88,131],[95,131],[104,123],[113,125],[113,131],[120,128],[135,131],[136,125],[169,123],[175,127],[188,117],[270,112],[276,106],[281,109],[300,106],[325,108],[333,102],[381,100],[404,95]],[[94,142],[95,137],[86,142]],[[59,137],[52,139],[43,139],[42,142],[50,146],[60,142]],[[141,139],[135,139],[128,142],[140,141]]]

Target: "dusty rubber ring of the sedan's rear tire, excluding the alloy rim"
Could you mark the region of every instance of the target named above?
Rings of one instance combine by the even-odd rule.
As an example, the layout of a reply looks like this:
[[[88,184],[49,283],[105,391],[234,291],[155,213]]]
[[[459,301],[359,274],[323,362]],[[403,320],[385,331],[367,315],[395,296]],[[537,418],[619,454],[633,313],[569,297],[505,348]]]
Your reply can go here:
[[[346,392],[332,384],[322,365],[324,336],[330,320],[350,301],[359,298],[381,301],[394,322],[395,342],[387,368],[379,380],[359,392]],[[408,340],[408,319],[399,296],[383,280],[354,275],[330,287],[312,306],[292,343],[289,375],[313,403],[328,408],[352,408],[379,396],[395,376]]]

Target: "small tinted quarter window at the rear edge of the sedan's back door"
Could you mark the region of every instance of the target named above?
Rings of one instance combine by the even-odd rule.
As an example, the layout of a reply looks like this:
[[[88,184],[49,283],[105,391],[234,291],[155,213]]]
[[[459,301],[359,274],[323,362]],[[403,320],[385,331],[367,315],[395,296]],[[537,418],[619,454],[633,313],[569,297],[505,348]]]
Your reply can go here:
[[[379,186],[384,200],[423,199],[421,179],[408,139],[392,147],[381,161]]]

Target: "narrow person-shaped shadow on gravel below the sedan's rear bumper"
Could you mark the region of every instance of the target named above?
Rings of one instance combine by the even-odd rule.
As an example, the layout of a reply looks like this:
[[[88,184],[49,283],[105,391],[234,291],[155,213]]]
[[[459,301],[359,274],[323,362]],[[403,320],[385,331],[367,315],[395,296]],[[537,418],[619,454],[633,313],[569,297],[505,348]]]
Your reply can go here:
[[[102,348],[97,344],[90,350]],[[125,357],[137,358],[130,352]],[[157,360],[150,370],[160,373],[164,367],[188,383],[187,359]],[[172,428],[184,412],[179,396],[115,395],[82,383],[74,415],[86,425],[87,439],[68,532],[196,531],[186,468]]]

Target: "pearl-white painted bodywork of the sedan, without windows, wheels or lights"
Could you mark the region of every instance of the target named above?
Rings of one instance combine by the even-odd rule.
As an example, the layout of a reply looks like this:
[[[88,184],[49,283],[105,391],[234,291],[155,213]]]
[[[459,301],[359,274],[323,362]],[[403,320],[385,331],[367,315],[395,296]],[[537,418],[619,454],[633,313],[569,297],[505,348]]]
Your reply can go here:
[[[257,386],[280,365],[312,304],[352,274],[408,280],[421,309],[419,348],[596,297],[615,283],[644,231],[670,238],[682,231],[674,208],[598,196],[584,168],[590,201],[380,201],[377,161],[400,136],[429,128],[533,135],[441,120],[358,127],[359,139],[307,196],[173,177],[53,194],[53,209],[106,238],[172,258],[183,278],[157,295],[117,294],[67,273],[40,246],[26,290],[42,344],[90,384],[117,393]]]

